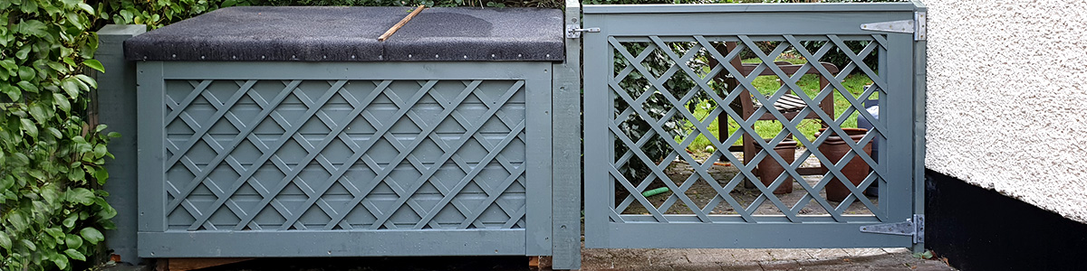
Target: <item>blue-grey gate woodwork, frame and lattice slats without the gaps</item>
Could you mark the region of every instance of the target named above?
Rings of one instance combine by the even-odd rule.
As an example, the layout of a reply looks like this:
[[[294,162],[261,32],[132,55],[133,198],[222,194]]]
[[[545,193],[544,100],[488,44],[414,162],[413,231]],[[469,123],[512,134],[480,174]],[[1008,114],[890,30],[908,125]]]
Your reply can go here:
[[[584,28],[601,28],[600,33],[589,33],[584,36],[586,55],[584,70],[585,104],[587,105],[585,108],[586,247],[911,246],[911,237],[861,233],[858,228],[872,223],[902,222],[911,218],[914,210],[915,197],[913,190],[916,180],[913,168],[914,157],[911,155],[891,155],[914,152],[914,107],[917,101],[914,100],[913,86],[913,37],[905,34],[865,31],[859,27],[860,24],[871,22],[912,18],[913,5],[899,3],[863,5],[728,4],[676,5],[675,8],[663,5],[586,5]],[[633,68],[632,66],[615,68],[613,67],[614,57],[625,59],[630,63],[640,63],[642,57],[648,56],[645,52],[627,52],[628,50],[623,47],[625,42],[651,42],[651,48],[665,48],[669,46],[664,42],[687,41],[697,42],[695,44],[701,48],[708,48],[711,47],[711,42],[735,41],[739,42],[741,47],[754,48],[755,41],[762,40],[787,41],[786,44],[791,44],[792,47],[800,47],[801,41],[819,40],[826,41],[833,46],[827,48],[834,48],[844,47],[845,40],[857,39],[872,42],[860,54],[850,55],[850,59],[859,63],[862,57],[858,55],[866,55],[867,52],[877,51],[880,55],[879,73],[870,69],[866,65],[839,67],[844,72],[838,75],[830,74],[817,65],[814,67],[807,66],[803,69],[814,68],[825,77],[833,77],[834,80],[830,80],[832,86],[829,87],[830,91],[845,91],[845,87],[841,86],[840,80],[845,79],[845,76],[850,70],[858,70],[863,75],[872,77],[875,86],[878,87],[861,95],[866,96],[867,93],[879,91],[879,98],[884,100],[880,103],[883,105],[880,106],[880,118],[873,124],[875,127],[874,132],[870,132],[861,142],[882,140],[880,157],[878,157],[879,163],[875,163],[867,155],[848,154],[845,156],[845,159],[861,159],[872,165],[873,172],[863,180],[862,188],[869,183],[880,182],[878,206],[875,206],[866,197],[852,195],[846,198],[846,203],[840,205],[835,203],[832,206],[826,199],[820,197],[812,198],[808,195],[801,202],[807,203],[809,199],[814,199],[823,208],[833,210],[830,216],[800,216],[797,212],[799,207],[785,206],[776,197],[769,197],[769,199],[767,197],[760,197],[751,205],[758,206],[763,202],[771,203],[778,208],[786,209],[780,216],[754,215],[752,214],[752,208],[746,208],[745,210],[737,208],[739,215],[715,215],[697,209],[692,209],[694,214],[690,215],[664,214],[662,210],[679,202],[683,202],[687,206],[692,205],[686,195],[676,192],[669,196],[669,199],[664,202],[660,210],[649,208],[649,215],[621,215],[622,209],[630,204],[649,204],[638,193],[646,189],[648,182],[625,180],[625,177],[622,177],[622,173],[617,170],[617,165],[623,165],[623,163],[650,164],[654,162],[640,151],[627,152],[623,157],[619,157],[614,153],[615,144],[639,145],[641,144],[640,142],[645,142],[645,138],[653,137],[654,134],[666,134],[667,131],[660,127],[663,125],[663,120],[659,121],[647,118],[646,116],[651,114],[648,114],[641,106],[630,106],[625,111],[616,111],[613,107],[616,99],[625,100],[627,104],[640,104],[646,101],[645,99],[649,98],[647,94],[629,96],[616,81],[623,80],[630,73],[638,73],[642,76],[652,74],[653,77],[660,73],[667,74],[667,77],[675,74],[685,75],[687,78],[699,77],[696,76],[696,72],[690,70],[690,68],[684,65],[673,66],[669,70],[659,70],[655,73],[641,67],[641,65],[633,65]],[[785,47],[778,47],[773,52],[755,52],[755,54],[764,63],[771,63],[774,61],[772,55],[777,55],[785,49]],[[615,52],[619,52],[617,56],[614,54]],[[665,57],[672,59],[675,63],[686,63],[691,57],[689,52],[674,52],[672,50],[663,50],[663,52],[667,54]],[[817,59],[817,55],[825,53],[826,50],[801,52],[808,59]],[[710,51],[710,54],[713,54],[716,59],[730,59],[735,55],[735,52],[729,53],[727,56],[714,51]],[[776,65],[761,65],[754,73],[758,74],[764,69],[772,70],[782,78],[788,77]],[[617,75],[615,72],[619,72]],[[730,65],[724,65],[714,67],[710,72],[710,74],[715,73],[735,75],[738,70]],[[786,93],[784,90],[800,89],[796,85],[798,78],[784,80],[785,86],[769,98],[763,98],[762,95],[753,95],[752,98],[761,104],[773,104],[773,101]],[[741,85],[740,88],[753,89],[751,79],[753,78],[738,78]],[[699,89],[709,91],[711,88],[707,85],[707,80],[704,78],[695,80],[698,87],[691,92]],[[649,78],[651,86],[647,86],[649,91],[644,93],[652,93],[653,90],[657,90],[674,107],[685,107],[684,105],[691,98],[691,92],[687,92],[688,94],[684,96],[673,96],[670,93],[676,90],[669,90],[664,87],[663,82],[664,80]],[[713,99],[715,104],[727,104],[728,102],[725,101],[736,99],[736,93],[738,91],[730,91],[727,96]],[[829,94],[828,91],[823,91],[813,99],[804,95],[800,98],[805,103],[814,106],[817,104],[815,101],[821,101],[822,96],[827,94]],[[848,116],[851,112],[855,112],[865,118],[873,119],[870,114],[860,109],[863,108],[861,101],[852,98],[850,94],[846,94],[845,99],[849,102],[851,108],[847,108],[844,115]],[[812,109],[809,108],[808,111]],[[722,111],[720,107],[715,108],[711,115],[721,112],[729,114],[734,119],[739,118],[736,115],[737,113]],[[765,107],[760,107],[755,112],[755,115],[761,116],[763,113],[770,113],[779,121],[788,124],[786,125],[788,130],[779,133],[770,143],[759,143],[763,149],[776,145],[789,132],[799,133],[799,130],[795,127],[799,124],[799,119],[796,121],[788,120],[782,113],[775,109],[766,109]],[[824,119],[824,122],[829,122],[830,129],[835,133],[844,133],[838,126],[846,120],[846,117],[826,116],[821,111],[813,111],[813,113]],[[617,122],[625,119],[626,116],[630,116],[629,114],[638,114],[642,119],[649,121],[651,126],[655,124],[658,127],[653,128],[650,133],[642,134],[641,139],[628,139],[622,134],[623,132],[620,130]],[[695,118],[686,109],[671,109],[664,113],[664,116],[666,116],[665,118],[667,116],[682,116],[686,119]],[[745,128],[753,124],[751,120],[740,119],[738,122],[741,124],[741,128],[746,129],[745,132],[754,132],[753,129]],[[694,128],[701,133],[709,133],[708,125],[708,122],[694,124]],[[728,139],[724,139],[724,142],[727,143],[714,143],[716,150],[727,150],[727,145],[730,142],[735,142],[739,134],[734,133]],[[828,138],[828,134],[824,133],[814,141],[808,141],[802,138],[798,140],[807,146],[817,146]],[[687,164],[696,165],[698,162],[694,160],[683,151],[691,140],[690,137],[683,142],[667,140],[674,152],[664,157],[663,160],[670,162],[679,158]],[[846,145],[854,153],[863,153],[860,149],[863,144],[847,141]],[[844,163],[830,165],[828,157],[821,154],[821,151],[814,150],[814,147],[804,151],[803,155],[812,155],[829,168],[829,173],[824,176],[816,185],[809,186],[804,182],[799,182],[804,190],[820,191],[832,181],[832,177],[841,179],[839,181],[846,181],[845,176],[840,172]],[[733,165],[737,165],[736,167],[740,169],[740,175],[737,175],[732,180],[717,180],[721,184],[716,185],[715,183],[717,182],[709,182],[719,195],[728,195],[745,178],[755,179],[751,172],[754,165],[744,166],[740,160],[730,154],[719,151],[708,159],[715,160],[722,156],[732,162]],[[767,152],[759,152],[753,157],[753,160],[764,158],[773,159],[779,164],[785,163],[774,152],[769,152],[769,154]],[[670,179],[663,172],[663,167],[665,166],[650,168],[652,171],[650,175],[661,179]],[[800,176],[796,167],[798,165],[786,167],[785,171],[789,176],[799,179]],[[713,177],[705,172],[708,166],[695,167],[696,175],[692,175],[682,185],[678,183],[673,184],[672,181],[665,181],[664,184],[672,191],[686,191],[694,181],[698,181],[700,178],[702,180],[714,180]],[[779,177],[775,183],[783,182],[784,178],[785,176]],[[754,183],[764,195],[770,194],[770,189],[765,185],[759,182]],[[629,190],[632,191],[632,196],[616,205],[615,199],[619,198],[613,198],[616,189]],[[859,194],[861,191],[857,188],[851,188],[850,190],[853,194]],[[854,201],[862,203],[871,209],[873,215],[847,216],[846,214],[841,214],[845,210],[845,206]],[[723,199],[720,196],[714,197],[711,204],[726,204],[726,202],[728,205],[737,207],[738,203],[727,196]],[[699,207],[701,208],[701,206]]]

